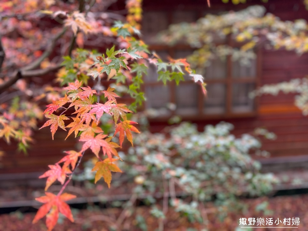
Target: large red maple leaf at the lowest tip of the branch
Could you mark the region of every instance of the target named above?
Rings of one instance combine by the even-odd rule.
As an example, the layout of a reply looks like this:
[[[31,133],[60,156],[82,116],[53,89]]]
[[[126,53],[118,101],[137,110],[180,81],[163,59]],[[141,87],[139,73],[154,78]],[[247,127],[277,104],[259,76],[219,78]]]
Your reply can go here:
[[[67,217],[71,222],[74,222],[70,206],[67,205],[67,203],[65,203],[64,201],[69,201],[76,198],[75,195],[69,193],[55,195],[48,192],[45,192],[45,194],[46,196],[35,198],[35,200],[44,203],[44,205],[42,205],[37,211],[32,221],[33,224],[38,222],[45,215],[47,215],[46,226],[48,228],[48,231],[51,231],[57,224],[59,212],[62,213],[65,217]]]

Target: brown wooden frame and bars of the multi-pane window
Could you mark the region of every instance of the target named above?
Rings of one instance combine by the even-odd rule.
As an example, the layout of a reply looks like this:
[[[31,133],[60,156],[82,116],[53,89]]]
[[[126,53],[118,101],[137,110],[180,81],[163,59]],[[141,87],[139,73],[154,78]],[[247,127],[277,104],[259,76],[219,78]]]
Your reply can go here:
[[[187,11],[193,10],[193,8],[189,7]],[[196,9],[195,9],[196,10]],[[164,9],[149,9],[149,11],[164,11]],[[201,15],[200,10],[196,10],[198,12],[198,16]],[[146,14],[146,12],[144,12]],[[168,25],[170,25],[171,18],[172,18],[172,13],[171,11],[167,11],[168,15]],[[199,17],[200,18],[200,17]],[[240,47],[241,43],[237,43],[232,39],[231,35],[227,36],[226,38],[227,43],[217,43],[217,45],[229,45],[230,47]],[[175,56],[175,52],[178,50],[190,50],[193,51],[193,48],[190,47],[189,45],[186,44],[176,44],[174,46],[168,46],[168,45],[160,45],[160,44],[148,44],[149,45],[149,50],[151,51],[167,51],[168,55],[170,57]],[[233,64],[232,64],[232,57],[231,55],[228,55],[226,57],[226,77],[223,79],[205,79],[205,83],[210,85],[213,83],[224,83],[226,86],[226,94],[225,94],[225,112],[220,113],[220,114],[205,114],[204,113],[204,95],[201,91],[201,88],[198,87],[197,91],[197,111],[198,113],[196,115],[181,115],[176,113],[176,110],[170,110],[169,115],[161,115],[153,118],[149,118],[150,120],[155,120],[155,121],[165,121],[171,118],[172,116],[178,115],[180,116],[183,120],[205,120],[205,119],[229,119],[229,118],[242,118],[242,117],[255,117],[257,115],[257,110],[259,107],[259,100],[258,97],[255,97],[253,99],[253,110],[249,112],[234,112],[232,110],[233,107],[233,84],[234,83],[253,83],[255,85],[255,88],[260,86],[260,77],[261,77],[261,49],[260,48],[255,48],[254,52],[256,54],[256,75],[254,78],[251,77],[245,77],[245,78],[234,78],[232,76],[233,74]],[[183,57],[184,58],[184,57]],[[181,81],[180,84],[192,84],[193,80],[191,81]],[[170,103],[174,103],[176,105],[176,83],[174,81],[172,82],[167,82],[167,84],[170,87]],[[162,86],[164,87],[164,84],[162,82],[152,82],[148,83],[144,81],[144,84],[142,86],[142,90],[145,92],[145,97],[147,97],[145,88],[147,86]],[[162,105],[163,107],[163,105]],[[147,109],[147,101],[145,101],[142,110]]]

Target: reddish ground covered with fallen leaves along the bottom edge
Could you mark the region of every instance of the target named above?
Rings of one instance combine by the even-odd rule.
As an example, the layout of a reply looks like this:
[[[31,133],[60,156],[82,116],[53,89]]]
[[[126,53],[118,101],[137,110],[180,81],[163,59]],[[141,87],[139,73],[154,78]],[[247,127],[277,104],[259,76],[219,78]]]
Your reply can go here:
[[[258,205],[268,202],[266,211],[258,208]],[[241,212],[229,213],[224,221],[220,221],[217,214],[208,213],[208,230],[210,231],[248,231],[249,229],[238,229],[239,218],[241,217],[273,217],[274,221],[279,218],[299,217],[300,224],[298,228],[280,224],[287,228],[254,228],[255,231],[307,231],[308,230],[308,194],[280,197],[262,197],[255,199],[243,200],[247,209]],[[144,222],[135,218],[124,219],[118,227],[115,227],[115,221],[120,216],[122,209],[107,208],[102,209],[98,206],[90,206],[88,209],[72,209],[75,223],[71,223],[68,219],[60,217],[55,231],[109,231],[109,230],[148,230],[154,231],[158,229],[157,218],[150,215],[150,209],[146,206],[139,206],[137,214],[144,217]],[[2,231],[45,231],[45,218],[36,224],[32,224],[35,213],[22,213],[16,211],[10,214],[0,215],[0,230]],[[146,225],[145,225],[146,224]],[[276,225],[272,225],[275,227]],[[111,229],[113,227],[113,229]],[[294,226],[293,226],[294,227]],[[143,229],[142,229],[143,228]],[[189,229],[190,228],[190,229]],[[201,230],[202,225],[198,223],[190,223],[186,217],[182,217],[171,208],[168,209],[166,220],[164,222],[164,230],[178,231],[194,231]],[[251,229],[252,230],[252,229]]]

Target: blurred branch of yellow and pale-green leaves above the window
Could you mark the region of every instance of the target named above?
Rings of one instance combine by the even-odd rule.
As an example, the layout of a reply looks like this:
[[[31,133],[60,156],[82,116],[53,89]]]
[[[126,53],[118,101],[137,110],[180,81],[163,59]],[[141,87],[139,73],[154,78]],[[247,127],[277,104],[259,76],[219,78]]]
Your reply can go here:
[[[233,46],[217,45],[229,38]],[[265,40],[269,42],[268,48],[285,48],[302,54],[308,51],[307,39],[306,20],[284,22],[273,14],[265,14],[263,6],[249,6],[221,15],[207,14],[196,23],[171,25],[160,35],[163,43],[184,42],[196,48],[188,61],[198,73],[204,73],[204,67],[209,66],[211,60],[224,59],[227,55],[248,65],[249,60],[255,58],[254,49],[260,44],[263,46]]]

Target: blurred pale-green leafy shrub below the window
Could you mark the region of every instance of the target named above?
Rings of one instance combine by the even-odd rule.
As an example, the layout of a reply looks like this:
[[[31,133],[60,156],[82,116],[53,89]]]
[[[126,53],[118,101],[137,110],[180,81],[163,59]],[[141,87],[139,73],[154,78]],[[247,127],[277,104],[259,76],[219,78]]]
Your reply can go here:
[[[144,131],[135,136],[134,148],[125,155],[119,152],[124,160],[120,167],[131,179],[135,196],[153,206],[151,214],[159,222],[163,223],[170,205],[206,228],[206,213],[218,213],[223,219],[230,209],[239,208],[238,197],[272,190],[277,179],[260,173],[261,164],[250,155],[260,152],[260,141],[250,134],[236,138],[230,134],[232,128],[221,122],[198,132],[195,125],[182,123],[166,128],[165,133]],[[274,138],[265,129],[254,134]],[[214,201],[216,209],[203,207],[209,201]]]

